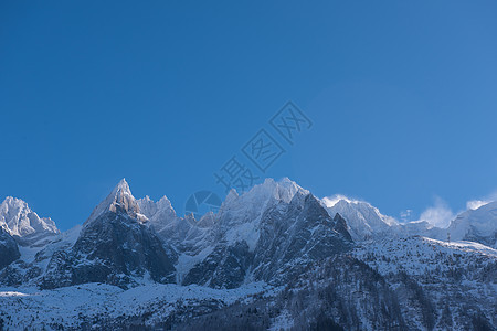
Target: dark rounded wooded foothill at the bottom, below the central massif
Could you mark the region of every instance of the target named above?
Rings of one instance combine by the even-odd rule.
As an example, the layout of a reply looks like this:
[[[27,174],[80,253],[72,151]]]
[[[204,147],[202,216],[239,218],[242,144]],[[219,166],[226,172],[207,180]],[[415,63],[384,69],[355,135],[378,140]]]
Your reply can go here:
[[[295,330],[408,330],[385,279],[350,256],[329,257],[304,270],[276,306]]]

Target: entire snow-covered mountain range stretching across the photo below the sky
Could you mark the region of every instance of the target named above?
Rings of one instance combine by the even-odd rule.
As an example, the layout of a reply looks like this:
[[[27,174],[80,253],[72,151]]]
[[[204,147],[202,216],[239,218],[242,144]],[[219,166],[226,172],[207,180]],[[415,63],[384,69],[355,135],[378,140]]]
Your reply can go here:
[[[493,330],[496,207],[440,229],[267,179],[194,220],[121,180],[61,234],[8,199],[0,329]]]

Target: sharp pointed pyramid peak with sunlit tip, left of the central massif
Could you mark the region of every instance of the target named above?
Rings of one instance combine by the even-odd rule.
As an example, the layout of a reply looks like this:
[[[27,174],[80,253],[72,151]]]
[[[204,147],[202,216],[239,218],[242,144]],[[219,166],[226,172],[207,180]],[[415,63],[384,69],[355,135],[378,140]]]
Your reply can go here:
[[[92,213],[74,246],[53,255],[42,287],[106,282],[127,288],[140,280],[175,281],[173,250],[139,215],[138,203],[121,181]]]

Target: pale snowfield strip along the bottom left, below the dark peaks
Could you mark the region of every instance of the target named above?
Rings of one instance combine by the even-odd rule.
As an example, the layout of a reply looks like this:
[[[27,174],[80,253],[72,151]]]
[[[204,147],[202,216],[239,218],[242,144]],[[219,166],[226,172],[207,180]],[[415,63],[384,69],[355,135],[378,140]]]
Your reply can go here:
[[[219,307],[248,302],[255,295],[273,296],[275,289],[254,282],[236,289],[150,284],[123,290],[105,284],[84,284],[54,290],[0,288],[0,317],[7,330],[78,329],[85,321],[129,319],[148,313],[146,325],[167,319],[178,308],[215,302]],[[91,322],[98,329],[98,323]]]

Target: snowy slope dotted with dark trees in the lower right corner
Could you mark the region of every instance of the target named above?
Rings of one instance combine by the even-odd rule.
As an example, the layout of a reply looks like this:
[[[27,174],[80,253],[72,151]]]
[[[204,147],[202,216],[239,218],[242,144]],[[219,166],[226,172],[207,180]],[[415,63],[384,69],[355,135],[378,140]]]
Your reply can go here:
[[[385,277],[409,329],[495,329],[496,249],[414,236],[368,243],[353,255]]]

